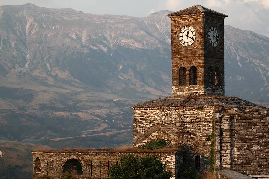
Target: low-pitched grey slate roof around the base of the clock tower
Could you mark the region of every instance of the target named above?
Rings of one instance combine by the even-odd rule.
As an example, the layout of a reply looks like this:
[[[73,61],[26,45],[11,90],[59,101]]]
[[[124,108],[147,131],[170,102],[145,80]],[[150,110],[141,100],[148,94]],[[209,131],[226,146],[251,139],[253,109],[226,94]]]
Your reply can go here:
[[[150,100],[144,103],[138,103],[131,106],[134,108],[163,108],[163,107],[179,107],[185,98],[165,98],[159,100]],[[214,106],[215,103],[223,103],[226,105],[236,106],[253,106],[262,107],[257,104],[242,100],[237,97],[198,97],[189,100],[184,106]]]

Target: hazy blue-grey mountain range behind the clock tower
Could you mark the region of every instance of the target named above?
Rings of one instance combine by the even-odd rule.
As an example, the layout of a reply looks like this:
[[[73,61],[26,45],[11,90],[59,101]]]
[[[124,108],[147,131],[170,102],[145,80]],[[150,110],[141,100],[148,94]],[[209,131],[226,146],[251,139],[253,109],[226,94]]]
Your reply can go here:
[[[131,143],[129,106],[171,95],[169,13],[0,6],[0,140]],[[269,106],[268,80],[269,38],[225,25],[225,94]]]

